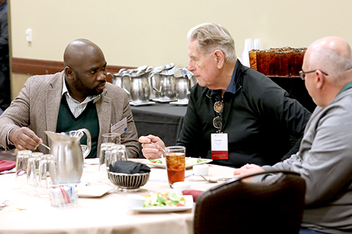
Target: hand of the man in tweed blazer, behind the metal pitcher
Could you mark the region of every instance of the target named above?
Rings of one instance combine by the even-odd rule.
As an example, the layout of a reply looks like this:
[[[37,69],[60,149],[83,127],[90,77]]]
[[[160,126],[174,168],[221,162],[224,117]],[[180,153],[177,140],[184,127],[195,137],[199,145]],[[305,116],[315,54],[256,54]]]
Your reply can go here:
[[[8,139],[18,150],[35,150],[43,143],[42,139],[34,134],[34,131],[25,126],[12,129],[8,134]]]

